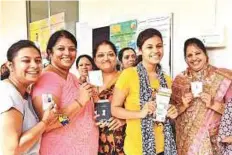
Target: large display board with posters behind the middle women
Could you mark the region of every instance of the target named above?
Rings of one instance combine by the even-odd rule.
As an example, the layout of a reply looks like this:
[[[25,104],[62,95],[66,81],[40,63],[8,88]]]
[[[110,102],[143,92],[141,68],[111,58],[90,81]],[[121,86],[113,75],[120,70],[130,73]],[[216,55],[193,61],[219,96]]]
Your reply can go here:
[[[78,32],[80,33],[76,36],[80,38],[80,42],[85,42],[83,44],[85,45],[85,50],[81,52],[88,55],[92,55],[93,49],[103,40],[110,40],[113,42],[116,45],[117,51],[124,47],[132,47],[138,52],[136,47],[138,34],[147,28],[155,28],[159,30],[163,36],[164,56],[161,61],[161,66],[166,74],[172,76],[172,20],[173,14],[165,14],[153,16],[151,18],[146,17],[119,23],[110,23],[109,25],[97,28],[88,25],[87,31],[83,25],[81,28],[77,26]],[[91,35],[91,37],[89,37],[89,35]]]

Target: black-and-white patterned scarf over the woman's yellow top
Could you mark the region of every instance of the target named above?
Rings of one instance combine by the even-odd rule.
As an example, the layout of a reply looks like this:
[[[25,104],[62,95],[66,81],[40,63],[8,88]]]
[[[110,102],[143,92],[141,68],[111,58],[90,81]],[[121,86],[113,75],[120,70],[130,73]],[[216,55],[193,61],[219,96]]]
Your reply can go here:
[[[145,103],[152,97],[152,89],[147,71],[141,62],[137,65],[137,72],[140,80],[140,109],[142,109]],[[159,67],[157,67],[157,74],[160,87],[167,88],[164,74]],[[141,119],[141,130],[143,155],[156,155],[153,116],[147,115]],[[165,155],[177,155],[176,143],[169,119],[164,123],[164,145]]]

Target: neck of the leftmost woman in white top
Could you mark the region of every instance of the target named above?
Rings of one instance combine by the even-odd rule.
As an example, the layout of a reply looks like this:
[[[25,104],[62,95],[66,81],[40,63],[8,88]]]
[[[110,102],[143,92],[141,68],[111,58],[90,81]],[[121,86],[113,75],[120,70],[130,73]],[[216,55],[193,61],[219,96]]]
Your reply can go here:
[[[8,80],[17,89],[21,96],[24,97],[29,84],[23,84],[13,76],[9,76]]]

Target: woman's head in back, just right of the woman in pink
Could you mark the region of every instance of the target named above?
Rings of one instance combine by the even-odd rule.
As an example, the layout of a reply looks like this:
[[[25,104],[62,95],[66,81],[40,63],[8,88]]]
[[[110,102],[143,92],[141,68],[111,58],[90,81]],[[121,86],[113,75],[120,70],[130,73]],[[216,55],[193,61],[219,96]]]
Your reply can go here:
[[[88,72],[91,70],[95,70],[95,64],[93,59],[89,55],[80,55],[76,60],[76,67],[80,74],[79,80],[86,81],[88,77]]]

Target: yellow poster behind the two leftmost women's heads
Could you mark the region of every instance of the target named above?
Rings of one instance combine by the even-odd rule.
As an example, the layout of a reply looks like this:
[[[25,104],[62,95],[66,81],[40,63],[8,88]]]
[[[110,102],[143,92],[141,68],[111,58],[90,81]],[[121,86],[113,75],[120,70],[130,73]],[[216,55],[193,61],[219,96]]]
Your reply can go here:
[[[42,19],[30,23],[29,25],[29,38],[33,41],[36,46],[41,50],[43,64],[46,61],[46,48],[47,42],[52,33],[57,30],[65,29],[65,14],[64,12],[52,15],[49,18]]]

